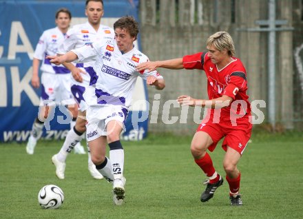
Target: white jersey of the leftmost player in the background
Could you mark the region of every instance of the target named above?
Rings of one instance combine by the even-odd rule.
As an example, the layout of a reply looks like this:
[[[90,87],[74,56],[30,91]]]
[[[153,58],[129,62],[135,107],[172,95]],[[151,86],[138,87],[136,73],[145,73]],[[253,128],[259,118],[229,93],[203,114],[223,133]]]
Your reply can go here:
[[[70,70],[67,70],[63,65],[54,65],[50,63],[49,59],[45,59],[45,56],[47,55],[56,55],[58,47],[63,42],[64,38],[65,35],[58,27],[45,30],[40,36],[39,42],[36,45],[36,50],[34,50],[34,58],[42,60],[40,68],[42,72],[52,74],[70,73]]]

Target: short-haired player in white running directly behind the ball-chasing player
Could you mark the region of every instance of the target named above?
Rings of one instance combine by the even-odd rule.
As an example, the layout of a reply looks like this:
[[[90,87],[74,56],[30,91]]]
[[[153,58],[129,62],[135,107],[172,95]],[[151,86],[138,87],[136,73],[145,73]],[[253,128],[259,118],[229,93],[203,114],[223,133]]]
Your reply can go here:
[[[85,14],[87,16],[87,22],[79,25],[74,25],[67,32],[67,36],[61,46],[59,47],[58,54],[65,54],[72,49],[81,48],[85,44],[90,44],[95,41],[108,41],[114,39],[114,30],[101,24],[101,17],[103,17],[103,1],[102,0],[87,0],[86,1]],[[86,87],[92,83],[91,75],[94,74],[94,61],[85,63],[65,63],[65,67],[72,72],[72,94],[79,105],[78,117],[76,119],[76,125],[74,129],[68,132],[65,142],[61,147],[58,154],[52,156],[52,163],[56,166],[56,176],[59,179],[65,178],[65,161],[72,152],[74,145],[76,145],[86,131],[85,127],[85,115],[86,115],[86,103],[83,97]],[[76,81],[76,80],[77,81]],[[102,179],[103,176],[96,170],[96,167],[92,163],[90,158],[90,149],[88,151],[88,169],[93,178]]]

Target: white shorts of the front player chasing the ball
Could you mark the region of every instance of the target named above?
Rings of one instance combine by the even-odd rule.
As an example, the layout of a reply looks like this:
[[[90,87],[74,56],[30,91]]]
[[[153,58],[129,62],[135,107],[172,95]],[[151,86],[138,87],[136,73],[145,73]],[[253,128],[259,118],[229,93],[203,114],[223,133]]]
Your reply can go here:
[[[109,105],[105,107],[90,106],[87,108],[86,137],[87,141],[95,140],[101,136],[107,136],[106,126],[109,121],[119,121],[125,130],[125,120],[128,110],[121,105]]]

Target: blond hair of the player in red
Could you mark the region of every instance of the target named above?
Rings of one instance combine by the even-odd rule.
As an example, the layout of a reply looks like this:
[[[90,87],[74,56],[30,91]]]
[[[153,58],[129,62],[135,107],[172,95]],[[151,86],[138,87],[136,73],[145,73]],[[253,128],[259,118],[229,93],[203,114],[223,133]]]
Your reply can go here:
[[[207,39],[207,46],[213,46],[216,50],[222,52],[223,50],[227,50],[229,56],[235,56],[236,50],[235,46],[233,45],[233,39],[228,32],[219,31],[215,34],[209,36]]]

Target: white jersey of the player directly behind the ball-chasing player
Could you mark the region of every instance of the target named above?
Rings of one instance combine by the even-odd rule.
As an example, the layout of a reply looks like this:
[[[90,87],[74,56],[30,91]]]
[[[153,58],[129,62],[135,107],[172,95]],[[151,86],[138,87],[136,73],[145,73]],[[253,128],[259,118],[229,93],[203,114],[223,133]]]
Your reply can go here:
[[[98,32],[94,30],[89,22],[74,25],[67,31],[65,41],[60,45],[58,54],[65,54],[70,50],[81,48],[83,45],[91,44],[96,41],[112,41],[114,39],[114,30],[105,25],[100,25]],[[92,73],[92,66],[94,61],[85,63],[76,63],[76,67],[81,68],[88,74],[83,74],[82,85],[88,86],[90,83],[90,74]]]

